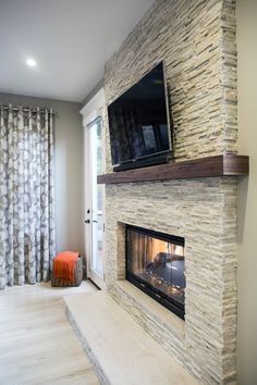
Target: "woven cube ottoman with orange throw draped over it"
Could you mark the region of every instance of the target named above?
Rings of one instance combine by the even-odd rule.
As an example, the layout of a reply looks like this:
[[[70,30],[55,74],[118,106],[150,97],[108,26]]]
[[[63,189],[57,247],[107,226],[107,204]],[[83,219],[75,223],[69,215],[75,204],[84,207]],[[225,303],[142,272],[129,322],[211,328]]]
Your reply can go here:
[[[83,280],[83,261],[78,252],[63,251],[52,260],[51,285],[79,286]]]

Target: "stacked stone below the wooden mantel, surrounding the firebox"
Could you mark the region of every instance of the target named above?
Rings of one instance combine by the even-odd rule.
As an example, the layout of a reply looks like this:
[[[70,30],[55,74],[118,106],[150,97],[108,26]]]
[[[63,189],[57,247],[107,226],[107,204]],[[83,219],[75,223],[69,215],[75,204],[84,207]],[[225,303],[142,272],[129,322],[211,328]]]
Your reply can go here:
[[[234,381],[235,186],[235,178],[225,177],[106,188],[109,293],[204,384],[227,384],[227,373]],[[183,338],[120,286],[125,276],[124,223],[185,238]]]

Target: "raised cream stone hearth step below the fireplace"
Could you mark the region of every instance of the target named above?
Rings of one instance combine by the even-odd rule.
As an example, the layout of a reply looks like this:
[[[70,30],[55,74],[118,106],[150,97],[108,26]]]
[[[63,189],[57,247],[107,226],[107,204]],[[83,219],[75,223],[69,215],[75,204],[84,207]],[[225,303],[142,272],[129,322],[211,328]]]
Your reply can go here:
[[[198,384],[105,291],[66,296],[64,301],[101,384]]]

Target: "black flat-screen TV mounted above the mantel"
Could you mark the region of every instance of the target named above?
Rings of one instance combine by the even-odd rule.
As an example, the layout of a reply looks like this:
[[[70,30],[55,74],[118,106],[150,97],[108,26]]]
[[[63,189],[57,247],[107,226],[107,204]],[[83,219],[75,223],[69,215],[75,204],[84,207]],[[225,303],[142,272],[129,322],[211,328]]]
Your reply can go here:
[[[163,62],[108,107],[113,171],[168,161],[172,151]]]

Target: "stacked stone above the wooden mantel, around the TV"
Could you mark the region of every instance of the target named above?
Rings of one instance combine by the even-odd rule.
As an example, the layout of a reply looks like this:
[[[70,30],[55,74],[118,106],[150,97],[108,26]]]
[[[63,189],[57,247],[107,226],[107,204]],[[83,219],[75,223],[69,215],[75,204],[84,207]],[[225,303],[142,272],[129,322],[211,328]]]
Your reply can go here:
[[[234,0],[157,0],[106,64],[109,104],[166,61],[178,160],[236,151],[234,7]]]

